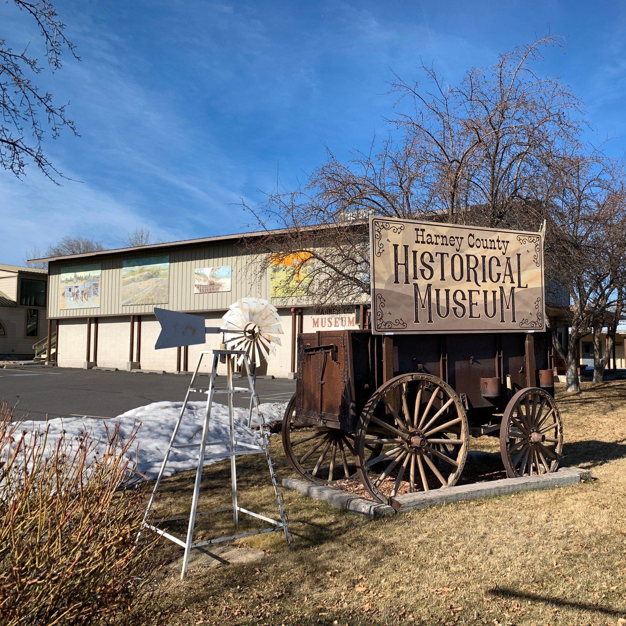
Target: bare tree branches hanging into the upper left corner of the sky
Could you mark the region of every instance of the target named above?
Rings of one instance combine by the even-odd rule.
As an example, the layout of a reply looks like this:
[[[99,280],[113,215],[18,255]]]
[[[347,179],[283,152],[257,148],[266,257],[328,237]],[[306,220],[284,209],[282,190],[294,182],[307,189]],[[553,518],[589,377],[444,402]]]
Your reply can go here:
[[[63,53],[80,60],[74,44],[64,35],[65,24],[59,20],[53,4],[48,0],[13,0],[13,3],[36,23],[52,72],[61,68]],[[28,46],[16,51],[6,39],[0,38],[0,167],[22,178],[27,163],[34,163],[46,177],[58,182],[59,177],[64,177],[43,152],[44,129],[53,138],[63,128],[74,135],[78,133],[67,115],[67,105],[56,105],[51,93],[34,85],[33,77],[42,70],[38,59],[29,54]]]

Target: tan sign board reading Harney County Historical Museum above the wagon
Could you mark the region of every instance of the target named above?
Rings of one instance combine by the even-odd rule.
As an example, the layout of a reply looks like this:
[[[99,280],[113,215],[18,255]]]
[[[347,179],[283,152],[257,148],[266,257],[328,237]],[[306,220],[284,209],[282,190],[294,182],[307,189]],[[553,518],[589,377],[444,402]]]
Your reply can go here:
[[[543,236],[370,218],[372,331],[543,331]]]

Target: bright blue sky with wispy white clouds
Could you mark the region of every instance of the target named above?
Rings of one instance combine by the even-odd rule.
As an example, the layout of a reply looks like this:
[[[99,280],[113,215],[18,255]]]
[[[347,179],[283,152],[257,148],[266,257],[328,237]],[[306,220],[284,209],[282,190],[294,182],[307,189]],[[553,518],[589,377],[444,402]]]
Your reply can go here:
[[[324,160],[384,132],[393,73],[421,58],[458,81],[470,66],[548,30],[567,38],[543,69],[587,104],[612,155],[626,148],[625,6],[608,2],[278,3],[58,0],[82,61],[39,85],[71,101],[80,138],[45,148],[80,182],[56,187],[30,167],[0,171],[0,262],[64,235],[120,245],[135,227],[165,240],[247,230],[238,205],[304,180]],[[36,32],[0,4],[0,38]]]

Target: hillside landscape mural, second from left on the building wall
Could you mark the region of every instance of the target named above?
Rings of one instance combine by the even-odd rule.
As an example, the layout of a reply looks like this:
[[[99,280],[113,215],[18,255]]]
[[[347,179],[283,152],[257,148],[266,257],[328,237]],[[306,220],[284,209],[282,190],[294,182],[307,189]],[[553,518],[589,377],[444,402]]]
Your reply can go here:
[[[165,304],[170,296],[170,257],[123,261],[121,304]]]

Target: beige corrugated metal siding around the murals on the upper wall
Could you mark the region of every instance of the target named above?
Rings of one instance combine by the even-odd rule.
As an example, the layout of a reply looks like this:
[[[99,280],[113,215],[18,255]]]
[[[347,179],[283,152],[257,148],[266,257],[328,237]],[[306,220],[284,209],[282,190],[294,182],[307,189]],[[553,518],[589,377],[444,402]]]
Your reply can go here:
[[[145,259],[155,256],[170,257],[170,284],[167,303],[123,306],[121,304],[121,270],[126,259]],[[153,311],[155,305],[163,309],[180,311],[226,310],[240,297],[255,296],[269,299],[269,277],[258,280],[252,269],[254,255],[240,254],[233,244],[202,244],[188,247],[172,247],[138,254],[113,257],[90,257],[87,265],[100,263],[100,307],[85,309],[59,309],[61,287],[59,275],[68,267],[80,265],[76,260],[55,261],[49,265],[50,297],[49,316],[86,317],[109,315],[140,315]],[[213,294],[193,293],[193,270],[197,267],[232,267],[232,290]]]

